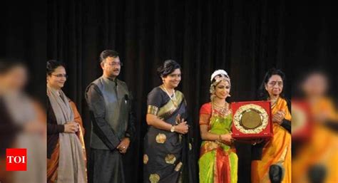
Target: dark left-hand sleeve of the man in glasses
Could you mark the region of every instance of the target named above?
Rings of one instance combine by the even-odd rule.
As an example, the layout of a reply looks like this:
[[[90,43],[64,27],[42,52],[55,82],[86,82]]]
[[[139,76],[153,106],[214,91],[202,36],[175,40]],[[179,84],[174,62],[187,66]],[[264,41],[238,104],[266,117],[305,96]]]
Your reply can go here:
[[[105,120],[106,107],[101,91],[96,85],[91,84],[88,86],[85,96],[91,121],[93,122],[93,132],[98,135],[110,150],[115,150],[120,144],[120,140],[116,137],[113,128]]]

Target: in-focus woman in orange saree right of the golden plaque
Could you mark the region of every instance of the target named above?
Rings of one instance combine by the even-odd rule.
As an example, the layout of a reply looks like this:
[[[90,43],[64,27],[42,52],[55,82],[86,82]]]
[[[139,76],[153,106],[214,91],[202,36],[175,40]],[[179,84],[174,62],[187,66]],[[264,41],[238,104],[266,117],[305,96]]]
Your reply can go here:
[[[281,70],[271,69],[265,74],[260,88],[260,98],[271,101],[274,135],[262,144],[260,160],[252,161],[252,183],[270,182],[269,169],[272,164],[284,167],[282,183],[291,182],[291,114],[282,94],[284,82],[285,74]]]

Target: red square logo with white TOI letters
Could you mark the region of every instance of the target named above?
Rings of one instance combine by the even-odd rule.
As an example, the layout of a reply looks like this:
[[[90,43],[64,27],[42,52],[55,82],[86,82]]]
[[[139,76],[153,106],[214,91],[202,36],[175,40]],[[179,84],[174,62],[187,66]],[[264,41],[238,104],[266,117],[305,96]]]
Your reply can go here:
[[[6,171],[26,171],[27,150],[6,149]]]

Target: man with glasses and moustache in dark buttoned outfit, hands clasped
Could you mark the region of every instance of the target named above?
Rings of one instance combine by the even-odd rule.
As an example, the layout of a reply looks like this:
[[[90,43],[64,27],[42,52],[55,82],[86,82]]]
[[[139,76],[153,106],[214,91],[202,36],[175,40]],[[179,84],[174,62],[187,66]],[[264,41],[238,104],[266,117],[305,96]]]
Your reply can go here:
[[[121,70],[118,53],[103,51],[100,60],[103,75],[86,89],[92,124],[88,182],[124,183],[122,155],[135,132],[132,98],[126,83],[116,78]]]

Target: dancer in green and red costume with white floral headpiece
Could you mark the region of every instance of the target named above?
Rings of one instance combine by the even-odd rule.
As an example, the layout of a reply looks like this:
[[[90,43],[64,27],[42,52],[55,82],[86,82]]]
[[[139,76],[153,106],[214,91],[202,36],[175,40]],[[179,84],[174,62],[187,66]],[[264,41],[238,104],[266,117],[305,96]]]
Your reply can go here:
[[[237,182],[237,155],[232,145],[232,111],[225,99],[230,96],[230,78],[225,70],[211,75],[211,102],[200,108],[200,183]]]

